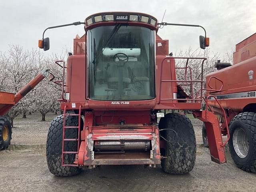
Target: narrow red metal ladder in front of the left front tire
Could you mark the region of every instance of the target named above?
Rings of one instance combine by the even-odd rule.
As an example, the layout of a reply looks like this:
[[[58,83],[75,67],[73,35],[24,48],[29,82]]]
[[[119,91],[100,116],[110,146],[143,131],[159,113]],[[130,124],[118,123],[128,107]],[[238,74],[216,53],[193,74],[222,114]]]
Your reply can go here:
[[[81,141],[81,111],[82,111],[82,105],[80,105],[79,107],[79,113],[78,114],[67,114],[66,113],[66,108],[67,106],[64,107],[64,112],[63,112],[63,132],[62,132],[62,159],[61,159],[61,166],[78,166],[78,164],[64,164],[64,154],[78,154],[79,151],[79,147],[80,147],[80,141]],[[78,116],[78,126],[68,126],[66,125],[66,117],[68,116]],[[66,129],[78,129],[78,138],[66,138],[65,137],[65,130]],[[77,151],[64,151],[64,146],[65,146],[65,142],[69,142],[69,141],[77,141],[78,145],[77,145]]]

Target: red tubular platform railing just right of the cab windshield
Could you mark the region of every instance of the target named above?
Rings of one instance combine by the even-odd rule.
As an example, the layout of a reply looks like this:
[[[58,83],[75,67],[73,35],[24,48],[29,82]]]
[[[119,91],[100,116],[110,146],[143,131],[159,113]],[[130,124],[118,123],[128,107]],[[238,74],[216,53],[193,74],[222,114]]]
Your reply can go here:
[[[159,93],[159,101],[158,101],[158,104],[160,104],[161,101],[163,100],[176,100],[176,101],[179,101],[179,100],[192,100],[194,102],[196,101],[202,101],[202,92],[203,92],[203,71],[204,71],[204,61],[207,60],[207,58],[200,58],[200,57],[166,57],[162,60],[162,63],[161,63],[161,66],[163,66],[163,63],[166,59],[186,59],[186,66],[184,67],[185,69],[185,80],[162,80],[162,72],[163,72],[163,67],[161,67],[161,72],[160,72],[160,93]],[[192,69],[190,66],[188,66],[188,61],[189,60],[202,60],[202,63],[201,63],[201,80],[193,80],[192,78]],[[177,68],[181,68],[181,67],[177,67]],[[187,68],[190,68],[190,80],[187,80]],[[161,92],[162,92],[162,82],[180,82],[180,83],[185,83],[186,86],[190,86],[190,99],[174,99],[174,98],[170,98],[170,99],[161,99]],[[201,96],[200,96],[200,99],[198,98],[194,98],[194,92],[193,92],[193,83],[200,83],[201,84],[201,89],[199,89],[199,91],[201,91]],[[182,85],[182,84],[181,84]],[[193,94],[192,94],[193,93]]]

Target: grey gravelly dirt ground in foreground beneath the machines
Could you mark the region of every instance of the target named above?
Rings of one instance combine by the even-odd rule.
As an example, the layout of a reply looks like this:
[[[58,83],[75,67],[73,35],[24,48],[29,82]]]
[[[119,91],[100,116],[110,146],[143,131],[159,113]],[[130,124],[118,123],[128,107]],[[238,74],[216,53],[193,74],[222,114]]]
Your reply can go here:
[[[102,166],[77,176],[56,177],[47,168],[44,150],[0,151],[0,191],[33,192],[255,192],[256,174],[238,169],[227,152],[227,164],[210,161],[208,149],[197,149],[196,165],[187,175],[170,175],[160,167]]]

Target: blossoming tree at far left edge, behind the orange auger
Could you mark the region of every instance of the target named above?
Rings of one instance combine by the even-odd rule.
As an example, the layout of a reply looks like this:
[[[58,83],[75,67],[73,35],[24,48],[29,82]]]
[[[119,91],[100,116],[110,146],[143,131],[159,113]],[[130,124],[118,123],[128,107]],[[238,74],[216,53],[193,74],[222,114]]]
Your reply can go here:
[[[30,56],[31,53],[27,50],[24,51],[19,45],[11,45],[7,53],[0,53],[0,64],[2,68],[0,90],[16,93],[26,85],[31,79],[31,72],[35,68],[29,62]],[[6,115],[10,116],[10,119],[13,121],[20,112],[26,115],[26,109],[29,105],[30,101],[25,97],[8,111]]]

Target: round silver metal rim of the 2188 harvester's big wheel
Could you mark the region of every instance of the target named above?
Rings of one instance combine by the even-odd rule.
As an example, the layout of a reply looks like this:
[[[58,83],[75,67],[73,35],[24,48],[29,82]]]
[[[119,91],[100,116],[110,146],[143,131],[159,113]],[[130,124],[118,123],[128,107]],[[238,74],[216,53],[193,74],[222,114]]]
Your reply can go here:
[[[249,152],[249,140],[246,132],[242,128],[237,128],[233,134],[233,145],[236,154],[240,158],[246,158]]]

